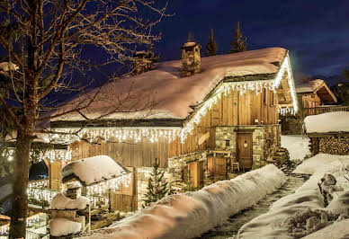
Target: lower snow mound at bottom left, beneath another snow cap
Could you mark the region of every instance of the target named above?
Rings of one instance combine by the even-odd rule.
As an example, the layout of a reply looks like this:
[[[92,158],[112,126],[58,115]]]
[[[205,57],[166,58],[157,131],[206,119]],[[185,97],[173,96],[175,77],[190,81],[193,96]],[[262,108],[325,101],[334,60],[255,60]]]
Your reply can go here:
[[[81,223],[66,218],[53,218],[49,221],[49,234],[53,236],[75,235],[81,231]]]

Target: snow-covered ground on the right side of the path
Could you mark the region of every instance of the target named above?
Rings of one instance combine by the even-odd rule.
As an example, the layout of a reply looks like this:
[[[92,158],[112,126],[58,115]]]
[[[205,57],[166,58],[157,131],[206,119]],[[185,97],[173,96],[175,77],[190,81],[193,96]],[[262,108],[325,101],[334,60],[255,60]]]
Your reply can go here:
[[[322,158],[321,158],[322,157]],[[316,160],[314,160],[314,158]],[[335,159],[336,158],[336,159]],[[310,162],[310,163],[309,163]],[[307,165],[303,167],[302,164]],[[255,217],[238,231],[237,238],[294,238],[311,235],[326,226],[324,236],[314,233],[320,238],[347,238],[328,237],[327,226],[338,227],[343,231],[341,220],[349,217],[349,155],[317,155],[305,160],[300,168],[310,172],[310,165],[318,170],[312,170],[313,175],[295,193],[277,200],[269,211]],[[336,177],[329,205],[325,207],[324,198],[320,193],[318,183],[324,181],[324,173]],[[327,177],[326,177],[327,178]],[[338,215],[340,215],[338,217]],[[345,216],[346,215],[346,216]],[[347,226],[346,234],[349,234]],[[343,235],[343,233],[341,233]],[[315,237],[309,237],[315,238]]]

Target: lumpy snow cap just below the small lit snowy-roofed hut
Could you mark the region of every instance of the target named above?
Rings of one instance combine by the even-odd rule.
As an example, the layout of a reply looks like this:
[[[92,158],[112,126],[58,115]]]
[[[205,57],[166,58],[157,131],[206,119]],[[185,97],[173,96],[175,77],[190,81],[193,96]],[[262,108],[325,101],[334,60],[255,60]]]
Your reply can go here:
[[[85,197],[77,199],[68,199],[63,193],[58,193],[51,201],[51,209],[79,209],[87,208],[90,200]]]

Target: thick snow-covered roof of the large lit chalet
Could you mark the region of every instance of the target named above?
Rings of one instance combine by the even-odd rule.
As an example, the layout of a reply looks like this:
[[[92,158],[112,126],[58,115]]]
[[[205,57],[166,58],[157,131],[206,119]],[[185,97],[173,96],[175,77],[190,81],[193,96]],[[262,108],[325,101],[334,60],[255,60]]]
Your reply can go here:
[[[86,120],[84,116],[94,120],[101,115],[103,120],[184,120],[193,111],[192,106],[203,102],[226,77],[276,74],[286,54],[286,49],[269,48],[201,58],[201,73],[183,78],[181,60],[161,62],[154,70],[121,78],[105,84],[100,91],[84,93],[66,102],[65,107],[52,115],[87,105],[88,109],[52,121]],[[94,102],[89,105],[88,99],[95,94]]]

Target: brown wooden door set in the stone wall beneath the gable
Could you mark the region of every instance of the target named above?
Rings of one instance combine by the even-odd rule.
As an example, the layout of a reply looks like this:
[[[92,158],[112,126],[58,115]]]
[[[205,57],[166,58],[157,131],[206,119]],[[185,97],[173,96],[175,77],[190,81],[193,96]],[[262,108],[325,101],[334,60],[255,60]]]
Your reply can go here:
[[[237,133],[237,160],[240,168],[252,168],[252,133]]]

